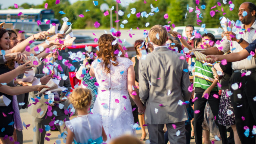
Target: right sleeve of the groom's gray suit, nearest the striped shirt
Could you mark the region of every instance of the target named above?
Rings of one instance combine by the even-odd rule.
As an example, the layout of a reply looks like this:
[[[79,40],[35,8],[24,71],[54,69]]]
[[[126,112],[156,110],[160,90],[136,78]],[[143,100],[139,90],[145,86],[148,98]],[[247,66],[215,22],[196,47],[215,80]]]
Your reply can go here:
[[[187,68],[188,68],[188,63],[186,60],[184,60],[183,69],[187,69]],[[182,77],[181,77],[180,85],[181,85],[181,92],[182,92],[184,100],[185,101],[189,100],[191,98],[192,92],[188,91],[188,87],[190,86],[189,75],[188,75],[188,72],[185,72],[184,70],[182,70]]]

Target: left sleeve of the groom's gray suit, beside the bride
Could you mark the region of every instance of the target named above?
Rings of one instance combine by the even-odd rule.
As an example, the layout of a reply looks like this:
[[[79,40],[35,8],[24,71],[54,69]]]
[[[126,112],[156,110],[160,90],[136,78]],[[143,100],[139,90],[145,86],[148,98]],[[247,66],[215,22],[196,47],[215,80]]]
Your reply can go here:
[[[149,97],[149,85],[141,60],[139,60],[139,87],[140,100],[145,105]]]

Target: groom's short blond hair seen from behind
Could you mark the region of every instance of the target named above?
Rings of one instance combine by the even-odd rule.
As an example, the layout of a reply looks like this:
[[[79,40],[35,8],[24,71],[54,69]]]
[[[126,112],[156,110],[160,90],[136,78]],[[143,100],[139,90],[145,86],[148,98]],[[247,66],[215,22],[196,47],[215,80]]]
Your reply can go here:
[[[159,36],[159,39],[157,39],[157,35]],[[149,30],[149,39],[152,43],[156,45],[163,45],[166,43],[166,40],[168,38],[167,30],[161,25],[155,25]]]

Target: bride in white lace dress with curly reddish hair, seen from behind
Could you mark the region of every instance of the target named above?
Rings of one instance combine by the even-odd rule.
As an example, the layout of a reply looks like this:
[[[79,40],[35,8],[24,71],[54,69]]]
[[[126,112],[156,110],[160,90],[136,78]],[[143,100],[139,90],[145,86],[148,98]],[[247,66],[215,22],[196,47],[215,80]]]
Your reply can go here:
[[[91,65],[90,75],[96,77],[98,95],[93,113],[100,113],[108,140],[123,134],[135,134],[132,106],[129,95],[142,112],[145,107],[140,101],[135,86],[133,63],[122,55],[118,56],[118,44],[110,34],[100,36],[98,59]],[[117,54],[115,54],[115,53]],[[97,86],[97,83],[95,84]]]

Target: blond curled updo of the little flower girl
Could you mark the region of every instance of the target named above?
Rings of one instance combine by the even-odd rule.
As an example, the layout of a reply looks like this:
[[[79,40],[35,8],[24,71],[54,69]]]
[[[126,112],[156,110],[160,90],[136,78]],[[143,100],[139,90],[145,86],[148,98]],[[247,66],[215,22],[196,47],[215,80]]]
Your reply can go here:
[[[78,87],[71,93],[69,100],[75,109],[86,108],[92,100],[92,92],[86,88]]]

